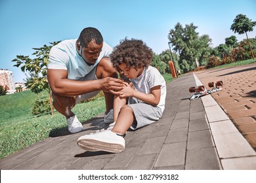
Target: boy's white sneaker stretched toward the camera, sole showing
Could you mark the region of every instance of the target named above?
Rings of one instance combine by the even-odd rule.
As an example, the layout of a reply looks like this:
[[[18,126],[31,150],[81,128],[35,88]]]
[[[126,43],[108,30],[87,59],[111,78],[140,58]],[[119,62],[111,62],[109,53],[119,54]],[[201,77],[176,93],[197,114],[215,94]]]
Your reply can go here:
[[[83,135],[77,140],[79,148],[87,151],[123,152],[125,139],[113,131],[105,130],[90,135]]]

